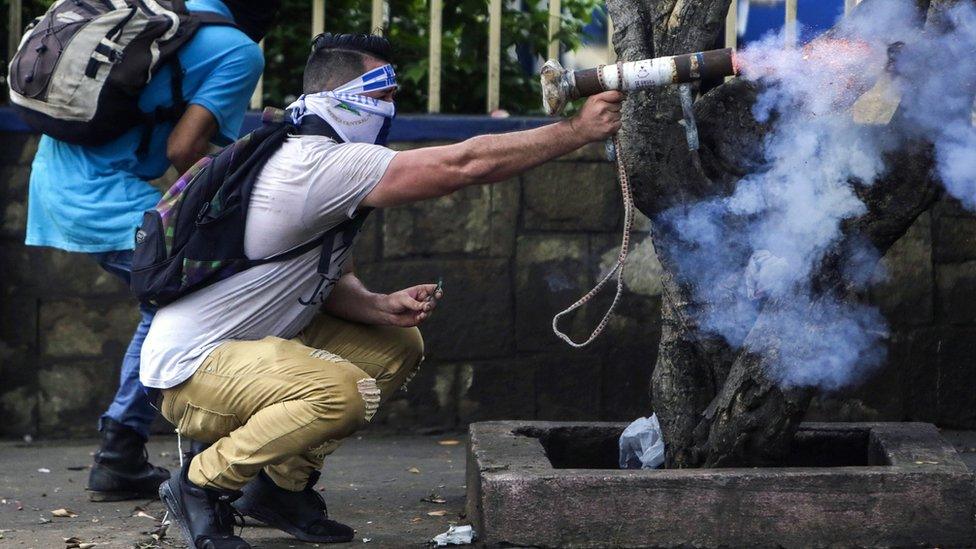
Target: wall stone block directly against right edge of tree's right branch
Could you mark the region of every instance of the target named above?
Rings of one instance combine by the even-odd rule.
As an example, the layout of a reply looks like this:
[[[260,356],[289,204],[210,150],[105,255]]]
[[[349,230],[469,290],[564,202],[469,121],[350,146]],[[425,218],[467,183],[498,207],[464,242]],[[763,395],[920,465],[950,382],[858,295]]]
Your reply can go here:
[[[871,300],[895,326],[930,324],[933,318],[932,231],[928,212],[888,250],[875,272]]]

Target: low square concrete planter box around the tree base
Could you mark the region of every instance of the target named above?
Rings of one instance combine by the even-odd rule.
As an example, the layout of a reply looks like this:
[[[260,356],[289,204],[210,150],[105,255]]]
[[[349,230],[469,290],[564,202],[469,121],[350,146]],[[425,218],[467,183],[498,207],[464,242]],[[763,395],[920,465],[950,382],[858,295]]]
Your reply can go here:
[[[927,423],[805,423],[783,467],[616,469],[623,423],[471,425],[489,545],[971,547],[973,475]]]

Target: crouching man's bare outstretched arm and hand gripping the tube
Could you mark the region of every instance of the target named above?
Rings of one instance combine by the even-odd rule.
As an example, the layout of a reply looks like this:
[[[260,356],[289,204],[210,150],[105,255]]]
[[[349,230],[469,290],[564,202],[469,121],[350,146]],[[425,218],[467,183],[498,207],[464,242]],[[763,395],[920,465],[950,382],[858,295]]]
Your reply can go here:
[[[604,92],[590,97],[575,117],[548,126],[400,152],[362,206],[408,204],[510,179],[616,133],[622,100],[620,92]]]

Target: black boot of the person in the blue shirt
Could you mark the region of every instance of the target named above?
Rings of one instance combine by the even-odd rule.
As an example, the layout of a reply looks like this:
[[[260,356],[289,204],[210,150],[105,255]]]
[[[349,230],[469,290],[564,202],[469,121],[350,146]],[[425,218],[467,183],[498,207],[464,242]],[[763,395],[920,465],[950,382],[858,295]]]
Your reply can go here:
[[[102,446],[88,475],[91,501],[153,498],[168,478],[169,471],[149,463],[139,433],[115,420],[102,420]]]

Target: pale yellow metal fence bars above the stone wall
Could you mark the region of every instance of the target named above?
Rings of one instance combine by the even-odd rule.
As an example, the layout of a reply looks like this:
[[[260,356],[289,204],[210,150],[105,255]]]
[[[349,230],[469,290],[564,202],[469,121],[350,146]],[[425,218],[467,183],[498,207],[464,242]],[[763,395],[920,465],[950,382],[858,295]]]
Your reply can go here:
[[[8,59],[17,50],[23,29],[23,7],[22,0],[8,0],[8,28],[10,29],[9,41],[7,44]],[[382,32],[388,19],[389,6],[387,0],[370,0],[371,19],[370,28],[373,32]],[[844,13],[850,13],[861,0],[844,0]],[[326,25],[326,2],[325,0],[311,0],[312,2],[312,21],[311,35],[315,36],[324,32]],[[441,74],[443,65],[441,63],[441,44],[443,38],[443,0],[428,0],[430,3],[430,44],[429,44],[429,67],[430,78],[428,78],[427,89],[427,111],[438,113],[441,110]],[[501,36],[502,36],[502,2],[503,0],[488,0],[488,81],[487,96],[488,101],[486,111],[491,113],[498,109],[501,101]],[[797,2],[798,0],[785,0],[785,36],[787,45],[795,45],[798,39],[797,33]],[[738,0],[732,0],[729,13],[725,22],[725,45],[734,48],[738,42]],[[549,45],[547,55],[549,58],[557,58],[560,53],[560,43],[557,38],[560,25],[562,23],[561,0],[549,0]],[[614,53],[612,44],[613,23],[607,15],[607,44],[608,62],[613,62]],[[264,43],[262,42],[262,48]],[[251,96],[251,108],[260,109],[262,107],[263,82],[259,81],[254,94]]]

